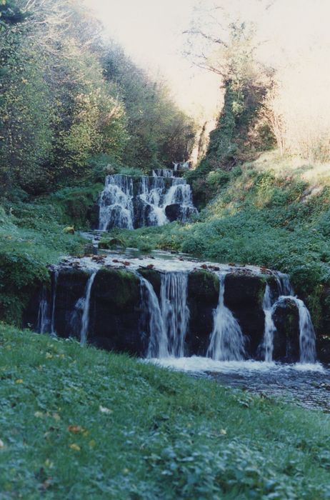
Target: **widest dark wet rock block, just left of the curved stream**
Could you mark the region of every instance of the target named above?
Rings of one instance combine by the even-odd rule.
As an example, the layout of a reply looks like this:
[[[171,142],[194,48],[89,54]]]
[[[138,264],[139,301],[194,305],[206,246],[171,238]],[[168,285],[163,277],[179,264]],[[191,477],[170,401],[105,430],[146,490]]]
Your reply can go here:
[[[142,356],[139,334],[140,281],[124,269],[101,269],[91,290],[89,341],[96,346]]]

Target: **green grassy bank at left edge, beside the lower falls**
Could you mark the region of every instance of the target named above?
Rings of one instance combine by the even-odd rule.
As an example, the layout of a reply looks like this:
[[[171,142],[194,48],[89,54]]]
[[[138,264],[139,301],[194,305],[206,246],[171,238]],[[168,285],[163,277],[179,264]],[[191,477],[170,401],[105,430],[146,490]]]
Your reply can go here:
[[[64,234],[52,204],[16,202],[7,209],[0,207],[0,319],[19,325],[31,296],[49,282],[47,265],[79,253],[86,241]]]

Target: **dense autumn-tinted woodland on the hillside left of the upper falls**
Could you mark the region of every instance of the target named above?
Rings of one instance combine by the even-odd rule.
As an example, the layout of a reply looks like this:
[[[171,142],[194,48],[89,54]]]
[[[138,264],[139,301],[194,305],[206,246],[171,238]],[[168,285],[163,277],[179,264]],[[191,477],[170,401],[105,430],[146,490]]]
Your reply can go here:
[[[2,194],[74,184],[91,156],[144,169],[189,156],[194,124],[78,4],[4,0],[0,19]]]

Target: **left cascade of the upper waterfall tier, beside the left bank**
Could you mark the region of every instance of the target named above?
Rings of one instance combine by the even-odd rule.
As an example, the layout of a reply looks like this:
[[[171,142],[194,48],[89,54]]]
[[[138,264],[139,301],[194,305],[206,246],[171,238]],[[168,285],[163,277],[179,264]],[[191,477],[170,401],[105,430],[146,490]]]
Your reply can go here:
[[[114,174],[106,176],[104,191],[99,203],[99,229],[113,227],[133,229],[133,179],[131,176]]]

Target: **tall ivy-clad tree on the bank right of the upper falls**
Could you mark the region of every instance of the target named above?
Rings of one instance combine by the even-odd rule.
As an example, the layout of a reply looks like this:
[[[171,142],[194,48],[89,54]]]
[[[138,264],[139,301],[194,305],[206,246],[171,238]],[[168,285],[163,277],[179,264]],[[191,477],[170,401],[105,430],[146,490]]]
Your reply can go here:
[[[262,147],[255,131],[273,71],[256,60],[251,24],[231,23],[219,37],[196,30],[193,34],[206,39],[213,47],[211,54],[202,53],[196,64],[219,74],[224,92],[224,106],[216,129],[210,134],[203,169],[231,169],[241,161],[252,159]]]

